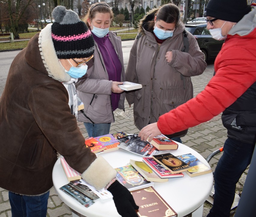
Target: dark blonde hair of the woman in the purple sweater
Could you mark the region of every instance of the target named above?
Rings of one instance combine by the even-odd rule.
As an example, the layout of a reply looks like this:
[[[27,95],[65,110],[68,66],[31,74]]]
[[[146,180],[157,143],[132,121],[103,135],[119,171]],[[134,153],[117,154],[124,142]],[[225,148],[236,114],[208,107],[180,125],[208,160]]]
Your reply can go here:
[[[95,4],[93,4],[90,9],[87,11],[83,21],[86,23],[86,25],[90,28],[87,19],[89,18],[90,20],[92,20],[96,13],[110,13],[110,20],[113,19],[114,17],[114,13],[111,10],[111,8],[108,6],[107,3],[105,3],[104,1],[102,2],[97,2]]]

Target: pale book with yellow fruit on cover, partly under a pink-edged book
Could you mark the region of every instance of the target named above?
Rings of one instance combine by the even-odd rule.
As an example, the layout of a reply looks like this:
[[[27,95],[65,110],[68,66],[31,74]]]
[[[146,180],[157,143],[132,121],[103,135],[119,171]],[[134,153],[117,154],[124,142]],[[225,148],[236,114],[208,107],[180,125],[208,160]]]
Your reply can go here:
[[[145,164],[143,161],[136,161],[130,159],[130,164],[140,173],[142,176],[152,182],[167,182],[168,179],[162,179],[159,177],[153,169],[151,169],[147,164]]]

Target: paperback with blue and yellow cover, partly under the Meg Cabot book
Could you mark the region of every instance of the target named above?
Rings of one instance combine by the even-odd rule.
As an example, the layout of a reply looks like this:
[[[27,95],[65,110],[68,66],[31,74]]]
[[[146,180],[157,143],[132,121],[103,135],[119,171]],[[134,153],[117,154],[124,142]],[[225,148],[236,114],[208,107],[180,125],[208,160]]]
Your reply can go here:
[[[193,154],[182,154],[178,157],[178,159],[184,161],[191,168],[185,171],[190,177],[199,176],[207,173],[211,173],[212,169],[206,166],[202,161],[200,161]]]

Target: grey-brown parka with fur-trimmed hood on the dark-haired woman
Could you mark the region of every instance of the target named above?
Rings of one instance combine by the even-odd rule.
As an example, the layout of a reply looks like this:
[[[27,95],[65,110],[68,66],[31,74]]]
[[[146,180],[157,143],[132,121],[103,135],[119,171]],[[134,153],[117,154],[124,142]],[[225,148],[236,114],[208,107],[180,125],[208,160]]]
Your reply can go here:
[[[148,29],[146,24],[154,19],[154,14],[146,16],[140,26],[141,37],[135,39],[126,69],[126,81],[142,84],[142,89],[126,92],[126,100],[134,104],[134,122],[140,130],[193,98],[190,76],[201,75],[207,66],[196,39],[189,32],[188,53],[181,51],[184,50],[185,29],[181,22],[173,36],[158,45],[153,29]],[[173,55],[169,63],[165,57],[167,51],[172,51]]]

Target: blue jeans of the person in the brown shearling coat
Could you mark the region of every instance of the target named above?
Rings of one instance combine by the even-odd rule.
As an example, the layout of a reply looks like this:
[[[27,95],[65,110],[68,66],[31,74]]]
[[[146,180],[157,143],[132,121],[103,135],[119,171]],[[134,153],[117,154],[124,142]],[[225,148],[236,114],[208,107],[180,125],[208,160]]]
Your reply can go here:
[[[40,196],[26,196],[9,192],[13,217],[45,217],[50,191]]]

